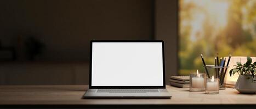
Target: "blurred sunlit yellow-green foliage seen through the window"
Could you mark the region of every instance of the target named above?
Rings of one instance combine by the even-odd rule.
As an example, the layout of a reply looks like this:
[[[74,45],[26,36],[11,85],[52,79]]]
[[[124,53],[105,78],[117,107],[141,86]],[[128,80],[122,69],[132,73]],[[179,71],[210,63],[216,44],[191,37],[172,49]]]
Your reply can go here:
[[[200,54],[213,65],[217,53],[256,56],[256,0],[179,1],[179,75],[204,72]]]

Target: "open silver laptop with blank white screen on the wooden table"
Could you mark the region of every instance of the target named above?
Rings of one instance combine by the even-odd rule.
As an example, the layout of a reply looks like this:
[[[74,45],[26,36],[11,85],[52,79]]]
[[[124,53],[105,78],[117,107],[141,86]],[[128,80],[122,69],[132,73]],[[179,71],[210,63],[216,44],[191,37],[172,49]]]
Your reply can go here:
[[[83,98],[170,98],[162,40],[90,41],[89,89]]]

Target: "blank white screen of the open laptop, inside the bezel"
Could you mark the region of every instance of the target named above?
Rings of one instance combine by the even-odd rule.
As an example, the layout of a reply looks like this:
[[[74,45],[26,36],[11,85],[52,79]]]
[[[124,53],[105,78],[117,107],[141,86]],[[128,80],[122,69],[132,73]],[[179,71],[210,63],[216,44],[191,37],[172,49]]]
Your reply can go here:
[[[92,43],[92,86],[163,86],[161,42]]]

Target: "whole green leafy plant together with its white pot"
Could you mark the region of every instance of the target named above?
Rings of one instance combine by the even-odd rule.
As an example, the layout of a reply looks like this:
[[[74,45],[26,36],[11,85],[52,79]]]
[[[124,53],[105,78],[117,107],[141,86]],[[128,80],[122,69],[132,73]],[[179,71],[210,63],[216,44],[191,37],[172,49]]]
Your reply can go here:
[[[254,75],[256,73],[256,62],[252,64],[252,58],[247,57],[247,62],[242,64],[236,62],[236,68],[231,69],[229,74],[239,74],[239,77],[235,84],[235,89],[240,93],[256,93],[256,79]]]

